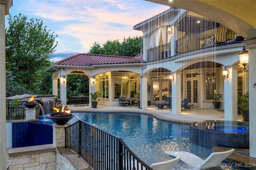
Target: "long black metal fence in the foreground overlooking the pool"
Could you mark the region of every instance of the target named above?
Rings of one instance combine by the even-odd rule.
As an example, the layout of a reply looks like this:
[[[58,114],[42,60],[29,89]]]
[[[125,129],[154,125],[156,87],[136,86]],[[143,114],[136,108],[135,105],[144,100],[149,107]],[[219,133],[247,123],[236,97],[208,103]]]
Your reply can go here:
[[[81,120],[65,127],[65,147],[95,170],[153,170],[121,138]]]

